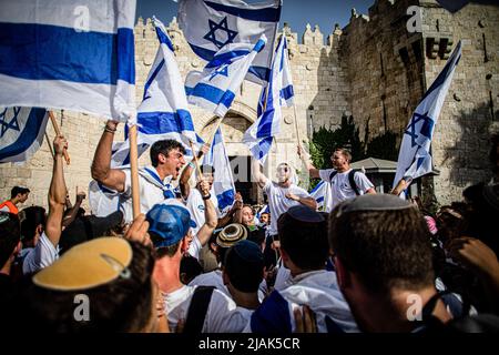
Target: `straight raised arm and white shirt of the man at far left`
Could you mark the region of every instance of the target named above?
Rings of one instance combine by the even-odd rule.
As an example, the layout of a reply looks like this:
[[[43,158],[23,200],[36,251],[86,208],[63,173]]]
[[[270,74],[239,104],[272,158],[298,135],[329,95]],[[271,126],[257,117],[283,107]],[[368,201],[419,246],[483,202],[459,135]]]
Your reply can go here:
[[[68,141],[62,136],[55,136],[53,140],[53,171],[52,181],[49,187],[49,215],[44,230],[38,229],[35,233],[37,243],[34,247],[24,252],[22,262],[22,272],[24,274],[34,273],[43,267],[51,265],[59,258],[59,240],[62,232],[62,216],[65,207],[65,187],[62,154],[68,148]]]

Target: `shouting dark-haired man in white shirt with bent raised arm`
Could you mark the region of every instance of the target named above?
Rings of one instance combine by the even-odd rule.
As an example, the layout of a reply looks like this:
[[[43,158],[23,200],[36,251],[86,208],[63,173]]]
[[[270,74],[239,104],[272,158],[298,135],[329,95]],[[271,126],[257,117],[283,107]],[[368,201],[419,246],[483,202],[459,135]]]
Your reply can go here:
[[[102,185],[116,191],[123,197],[122,207],[125,222],[133,220],[130,170],[111,169],[114,132],[118,122],[108,121],[92,162],[92,178]],[[147,213],[156,203],[174,199],[172,182],[179,178],[185,165],[185,149],[174,140],[161,140],[151,145],[152,166],[139,170],[141,212]],[[109,211],[112,213],[114,211]]]

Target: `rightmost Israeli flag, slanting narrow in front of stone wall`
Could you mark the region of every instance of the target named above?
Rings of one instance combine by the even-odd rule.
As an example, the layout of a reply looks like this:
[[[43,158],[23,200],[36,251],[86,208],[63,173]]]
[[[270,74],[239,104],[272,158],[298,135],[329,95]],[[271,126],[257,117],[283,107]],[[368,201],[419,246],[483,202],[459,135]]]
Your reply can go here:
[[[398,184],[400,179],[411,181],[432,171],[431,139],[447,91],[452,81],[456,65],[460,59],[461,41],[455,48],[444,70],[422,97],[404,132],[394,186]]]

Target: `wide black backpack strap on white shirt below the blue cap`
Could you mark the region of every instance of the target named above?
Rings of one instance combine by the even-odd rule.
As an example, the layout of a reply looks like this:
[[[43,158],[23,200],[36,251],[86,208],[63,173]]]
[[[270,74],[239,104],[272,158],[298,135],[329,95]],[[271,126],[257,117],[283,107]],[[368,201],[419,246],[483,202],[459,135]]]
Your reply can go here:
[[[212,300],[214,286],[197,286],[189,305],[187,318],[185,320],[184,333],[201,334],[204,320],[206,318],[207,307]]]

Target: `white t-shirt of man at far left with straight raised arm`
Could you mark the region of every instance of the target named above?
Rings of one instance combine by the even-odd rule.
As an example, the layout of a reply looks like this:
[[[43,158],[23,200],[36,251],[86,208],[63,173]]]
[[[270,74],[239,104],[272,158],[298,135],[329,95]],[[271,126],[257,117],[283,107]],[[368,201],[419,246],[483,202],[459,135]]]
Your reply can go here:
[[[43,267],[52,265],[58,258],[59,246],[55,247],[47,236],[45,232],[43,232],[37,243],[37,246],[30,247],[26,252],[26,256],[22,262],[22,273],[34,273]]]

